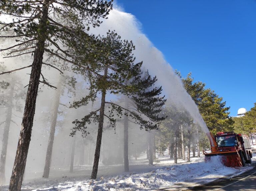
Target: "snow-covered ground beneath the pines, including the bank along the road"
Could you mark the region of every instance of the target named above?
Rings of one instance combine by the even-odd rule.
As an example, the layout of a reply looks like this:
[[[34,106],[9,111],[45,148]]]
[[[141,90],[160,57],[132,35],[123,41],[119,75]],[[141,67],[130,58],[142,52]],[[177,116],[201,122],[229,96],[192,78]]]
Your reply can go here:
[[[160,188],[176,188],[179,186],[197,186],[213,181],[221,177],[232,177],[243,173],[252,165],[246,164],[241,168],[229,168],[219,163],[218,157],[211,162],[205,163],[204,157],[192,157],[191,162],[178,160],[178,164],[173,164],[173,159],[165,153],[165,156],[157,157],[153,166],[147,165],[144,155],[137,161],[131,160],[130,173],[120,173],[122,165],[99,166],[98,178],[89,178],[91,167],[77,166],[76,173],[68,173],[67,170],[52,171],[52,176],[46,179],[31,179],[24,181],[23,191],[94,191],[94,190],[156,190]],[[254,153],[252,164],[256,163]],[[119,171],[119,173],[118,173]],[[63,176],[61,176],[63,175]],[[1,191],[7,191],[8,185],[0,186]]]

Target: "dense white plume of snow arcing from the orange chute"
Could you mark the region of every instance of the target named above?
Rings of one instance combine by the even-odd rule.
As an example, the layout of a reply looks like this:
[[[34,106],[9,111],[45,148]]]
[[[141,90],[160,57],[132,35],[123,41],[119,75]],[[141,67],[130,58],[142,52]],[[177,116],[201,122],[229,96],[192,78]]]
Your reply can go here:
[[[136,47],[134,51],[136,61],[143,61],[144,69],[148,70],[152,76],[157,76],[157,83],[162,86],[167,99],[177,106],[184,107],[212,142],[210,132],[199,113],[197,105],[185,91],[180,78],[174,73],[171,65],[165,61],[162,53],[141,32],[141,24],[135,16],[114,9],[110,12],[108,18],[99,28],[92,29],[91,32],[105,35],[108,29],[115,30],[123,39],[132,40]]]

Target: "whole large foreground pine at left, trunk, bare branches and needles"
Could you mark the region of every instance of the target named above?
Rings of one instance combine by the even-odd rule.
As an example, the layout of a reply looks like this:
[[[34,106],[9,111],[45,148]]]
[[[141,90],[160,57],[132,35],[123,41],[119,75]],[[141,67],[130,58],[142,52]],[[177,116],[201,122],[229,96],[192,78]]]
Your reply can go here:
[[[54,88],[46,82],[41,73],[43,57],[47,55],[48,57],[51,56],[76,64],[74,56],[62,49],[57,42],[64,47],[69,46],[68,43],[71,42],[71,39],[79,38],[80,35],[84,34],[84,30],[89,29],[85,29],[83,22],[87,23],[88,26],[98,26],[101,23],[100,18],[105,18],[111,8],[112,2],[98,0],[0,1],[0,14],[13,18],[8,23],[0,22],[1,38],[14,38],[17,42],[0,51],[9,51],[7,57],[32,54],[34,58],[32,65],[23,67],[31,67],[31,74],[17,153],[10,180],[10,191],[19,191],[21,189],[39,83]],[[45,52],[47,54],[44,54]],[[12,54],[14,56],[9,56]],[[52,64],[44,63],[44,65],[56,69]],[[43,80],[40,80],[40,76],[42,76]]]

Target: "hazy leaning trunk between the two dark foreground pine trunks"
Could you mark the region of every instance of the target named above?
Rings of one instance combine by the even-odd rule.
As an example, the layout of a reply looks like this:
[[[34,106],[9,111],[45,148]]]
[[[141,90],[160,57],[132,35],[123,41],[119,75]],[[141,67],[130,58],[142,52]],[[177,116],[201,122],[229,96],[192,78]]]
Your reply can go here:
[[[43,178],[49,178],[49,173],[50,173],[52,148],[53,148],[54,134],[55,134],[56,122],[57,122],[58,111],[59,111],[58,109],[59,109],[59,104],[60,104],[60,96],[61,96],[61,83],[62,83],[62,78],[60,78],[60,80],[59,80],[58,89],[57,89],[57,92],[55,95],[53,117],[52,117],[49,141],[48,141],[46,157],[45,157]]]

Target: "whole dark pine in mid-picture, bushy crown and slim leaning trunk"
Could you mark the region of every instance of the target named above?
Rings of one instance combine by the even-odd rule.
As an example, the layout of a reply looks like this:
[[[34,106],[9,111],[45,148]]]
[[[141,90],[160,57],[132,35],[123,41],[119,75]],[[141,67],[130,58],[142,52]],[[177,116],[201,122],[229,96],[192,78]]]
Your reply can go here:
[[[98,92],[101,92],[101,106],[97,110],[91,111],[81,120],[74,121],[75,127],[71,133],[73,136],[75,132],[79,130],[86,135],[87,124],[98,122],[92,179],[96,179],[98,171],[104,116],[109,120],[110,126],[114,128],[116,119],[122,118],[122,115],[126,115],[130,116],[141,128],[145,128],[146,130],[156,128],[156,122],[163,119],[158,117],[157,114],[159,107],[163,104],[160,103],[161,101],[153,100],[163,100],[163,98],[151,96],[159,95],[161,88],[156,88],[151,91],[144,90],[143,84],[148,84],[146,86],[148,88],[150,87],[149,84],[152,86],[156,79],[151,79],[149,76],[145,80],[141,80],[140,68],[142,63],[134,64],[135,58],[132,55],[132,51],[135,47],[133,43],[121,40],[121,37],[113,31],[109,31],[106,37],[98,37],[95,40],[98,42],[98,45],[95,47],[91,59],[88,59],[88,54],[83,54],[84,50],[75,50],[79,54],[78,56],[81,57],[80,60],[85,61],[84,66],[86,66],[88,60],[90,60],[90,66],[93,67],[91,70],[81,70],[81,67],[73,68],[75,71],[88,77],[90,94],[83,97],[80,101],[74,102],[72,106],[80,107],[87,105],[89,101],[95,101]],[[129,110],[113,101],[106,101],[105,97],[107,93],[132,97],[136,103],[137,111],[140,112]],[[140,96],[142,96],[143,99],[140,99]],[[142,104],[146,102],[148,104],[143,107]],[[150,103],[152,103],[151,106],[149,105]],[[108,107],[108,112],[105,112],[105,105]],[[141,113],[147,116],[149,120],[144,119]]]

